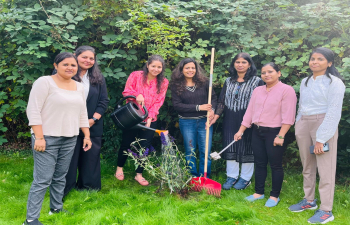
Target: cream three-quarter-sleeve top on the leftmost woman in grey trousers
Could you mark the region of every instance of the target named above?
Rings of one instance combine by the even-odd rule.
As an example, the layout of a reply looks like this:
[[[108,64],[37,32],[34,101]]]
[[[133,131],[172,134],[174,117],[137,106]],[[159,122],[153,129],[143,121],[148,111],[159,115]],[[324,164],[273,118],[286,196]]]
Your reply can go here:
[[[44,135],[54,137],[76,136],[80,127],[89,127],[84,87],[76,84],[77,90],[70,91],[59,88],[51,76],[38,78],[26,110],[29,126],[42,125]]]

